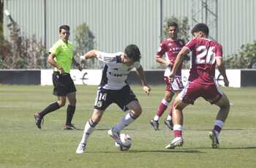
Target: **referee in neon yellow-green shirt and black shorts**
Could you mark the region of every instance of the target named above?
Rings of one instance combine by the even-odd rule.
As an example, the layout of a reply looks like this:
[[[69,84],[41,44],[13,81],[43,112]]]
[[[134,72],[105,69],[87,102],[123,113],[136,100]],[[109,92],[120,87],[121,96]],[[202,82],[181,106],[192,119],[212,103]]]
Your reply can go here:
[[[41,112],[37,112],[34,115],[36,126],[41,129],[41,123],[45,115],[66,104],[66,99],[69,100],[67,106],[67,119],[64,129],[75,129],[75,126],[71,123],[73,115],[75,113],[75,84],[69,75],[70,66],[72,61],[75,66],[81,71],[82,67],[75,61],[73,57],[73,45],[69,42],[69,26],[62,25],[59,27],[59,41],[57,41],[53,47],[50,48],[48,63],[54,66],[53,72],[53,95],[58,97],[57,102],[49,104]]]

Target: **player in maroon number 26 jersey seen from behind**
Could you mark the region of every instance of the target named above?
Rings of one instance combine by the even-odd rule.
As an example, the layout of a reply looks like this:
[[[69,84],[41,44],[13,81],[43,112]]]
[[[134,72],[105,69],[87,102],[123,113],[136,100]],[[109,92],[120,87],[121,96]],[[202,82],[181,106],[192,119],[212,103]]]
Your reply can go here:
[[[211,104],[219,106],[219,112],[214,122],[214,129],[209,133],[212,148],[219,147],[219,132],[227,119],[230,111],[230,102],[225,93],[218,87],[215,81],[215,66],[224,77],[225,86],[229,85],[225,66],[222,61],[222,45],[208,39],[209,29],[204,23],[198,23],[192,28],[195,37],[185,45],[178,53],[173,69],[170,72],[170,80],[176,75],[182,58],[192,51],[192,67],[189,72],[189,83],[178,94],[173,103],[173,133],[174,139],[165,148],[175,148],[184,142],[182,138],[183,114],[182,110],[188,104],[194,104],[198,97],[203,97]]]

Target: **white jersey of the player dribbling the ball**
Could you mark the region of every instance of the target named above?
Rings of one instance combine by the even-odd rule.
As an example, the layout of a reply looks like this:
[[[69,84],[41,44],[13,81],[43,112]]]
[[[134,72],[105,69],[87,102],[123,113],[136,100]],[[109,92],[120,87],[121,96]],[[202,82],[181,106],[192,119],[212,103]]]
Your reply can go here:
[[[123,53],[103,53],[97,52],[99,61],[104,62],[105,67],[102,72],[102,80],[100,86],[108,90],[119,90],[127,85],[127,77],[129,72],[140,67],[140,62],[136,61],[131,66],[121,63],[121,55]]]

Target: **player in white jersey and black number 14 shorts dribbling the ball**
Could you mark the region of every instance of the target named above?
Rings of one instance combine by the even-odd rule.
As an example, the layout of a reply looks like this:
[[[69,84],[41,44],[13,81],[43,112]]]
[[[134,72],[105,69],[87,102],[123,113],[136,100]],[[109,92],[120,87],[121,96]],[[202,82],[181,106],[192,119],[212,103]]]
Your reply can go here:
[[[122,145],[119,137],[120,131],[135,121],[142,112],[135,93],[132,92],[127,83],[127,76],[131,69],[135,67],[143,85],[143,90],[147,94],[151,91],[146,83],[143,67],[140,65],[140,50],[136,45],[128,45],[124,53],[103,53],[98,50],[90,50],[84,58],[98,58],[99,61],[105,63],[105,67],[94,103],[94,112],[86,123],[76,153],[84,152],[89,136],[102,118],[103,112],[112,103],[116,103],[122,110],[127,111],[127,114],[121,118],[116,126],[108,131],[110,137],[118,145]]]

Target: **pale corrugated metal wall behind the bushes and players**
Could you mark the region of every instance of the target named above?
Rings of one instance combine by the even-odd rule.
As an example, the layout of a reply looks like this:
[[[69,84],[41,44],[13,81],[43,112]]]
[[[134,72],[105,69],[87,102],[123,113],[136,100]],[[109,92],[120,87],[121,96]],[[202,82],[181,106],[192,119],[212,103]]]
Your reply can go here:
[[[44,1],[46,12],[44,12]],[[205,0],[207,1],[207,0]],[[213,0],[208,0],[208,2]],[[86,22],[96,37],[96,48],[113,53],[130,43],[140,47],[145,69],[156,68],[154,61],[160,37],[160,0],[4,0],[12,18],[24,34],[34,34],[49,48],[59,39],[61,24],[71,26],[71,40],[76,26]],[[162,19],[188,17],[192,25],[192,9],[200,12],[201,0],[162,0]],[[256,1],[219,0],[218,41],[224,55],[238,51],[241,45],[256,39]],[[44,22],[46,15],[46,22]],[[200,16],[199,16],[200,21]],[[4,16],[4,34],[8,36]],[[46,29],[45,29],[46,28]],[[213,32],[213,30],[210,32]]]

